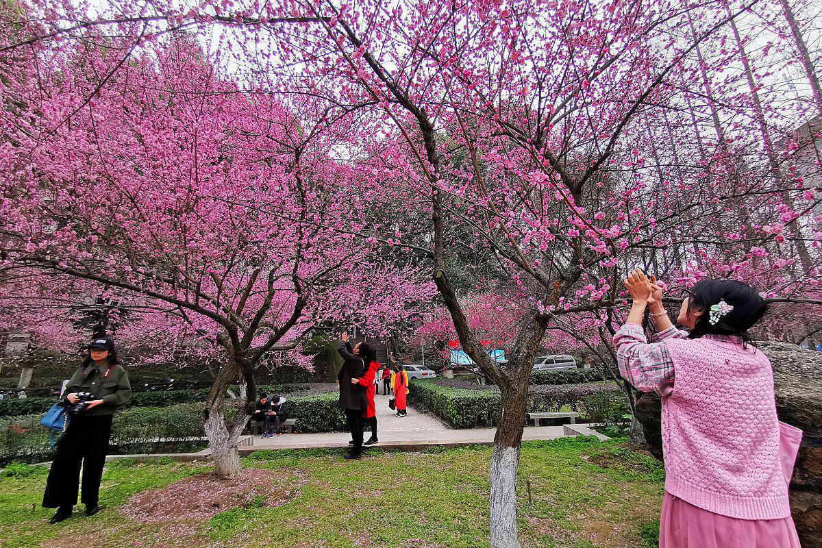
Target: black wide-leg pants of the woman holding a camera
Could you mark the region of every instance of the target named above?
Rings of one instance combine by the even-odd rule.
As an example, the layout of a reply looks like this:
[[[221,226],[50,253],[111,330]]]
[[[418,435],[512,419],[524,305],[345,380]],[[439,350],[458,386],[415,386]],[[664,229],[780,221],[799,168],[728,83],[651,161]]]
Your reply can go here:
[[[113,415],[85,417],[77,415],[68,421],[60,436],[54,460],[48,471],[44,508],[77,504],[80,467],[83,467],[81,502],[92,508],[98,504],[100,480],[105,457],[109,454]]]

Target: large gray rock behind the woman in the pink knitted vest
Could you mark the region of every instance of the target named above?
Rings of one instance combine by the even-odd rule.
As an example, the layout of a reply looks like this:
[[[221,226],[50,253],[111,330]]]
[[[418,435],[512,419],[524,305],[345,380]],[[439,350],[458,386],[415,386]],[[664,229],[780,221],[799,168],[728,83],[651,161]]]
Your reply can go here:
[[[779,420],[801,428],[802,445],[793,469],[791,509],[802,546],[822,546],[822,352],[787,343],[758,343],[774,366]],[[662,405],[640,394],[636,418],[649,449],[662,457]]]

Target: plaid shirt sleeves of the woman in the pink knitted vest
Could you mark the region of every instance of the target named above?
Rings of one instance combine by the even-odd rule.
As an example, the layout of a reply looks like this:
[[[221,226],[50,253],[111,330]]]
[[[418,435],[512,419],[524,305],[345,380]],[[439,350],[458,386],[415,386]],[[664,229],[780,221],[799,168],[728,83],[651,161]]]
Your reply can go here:
[[[658,334],[658,343],[648,343],[642,326],[623,325],[614,335],[620,375],[640,392],[656,392],[660,396],[671,394],[673,361],[663,341],[686,336],[684,331],[669,327]]]

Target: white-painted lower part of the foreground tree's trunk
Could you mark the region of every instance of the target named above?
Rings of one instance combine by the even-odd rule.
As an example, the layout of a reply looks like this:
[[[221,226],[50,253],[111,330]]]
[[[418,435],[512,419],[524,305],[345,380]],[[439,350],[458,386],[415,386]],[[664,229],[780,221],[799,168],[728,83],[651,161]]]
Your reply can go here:
[[[491,548],[520,548],[516,523],[519,466],[519,447],[494,444],[491,455]]]

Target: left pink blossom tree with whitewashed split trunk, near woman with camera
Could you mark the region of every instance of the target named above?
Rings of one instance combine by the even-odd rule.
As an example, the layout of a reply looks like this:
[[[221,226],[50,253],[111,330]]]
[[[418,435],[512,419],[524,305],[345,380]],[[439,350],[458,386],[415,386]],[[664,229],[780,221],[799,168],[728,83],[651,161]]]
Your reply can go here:
[[[184,36],[128,62],[111,54],[133,46],[92,32],[5,59],[19,72],[2,90],[3,298],[57,310],[99,288],[219,348],[205,431],[230,476],[268,352],[298,348],[317,321],[387,329],[431,284],[326,228],[355,212],[336,187],[352,172],[329,156],[344,127],[319,102],[241,94]],[[23,277],[66,298],[15,295]],[[238,380],[247,397],[229,417]]]

